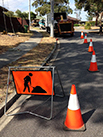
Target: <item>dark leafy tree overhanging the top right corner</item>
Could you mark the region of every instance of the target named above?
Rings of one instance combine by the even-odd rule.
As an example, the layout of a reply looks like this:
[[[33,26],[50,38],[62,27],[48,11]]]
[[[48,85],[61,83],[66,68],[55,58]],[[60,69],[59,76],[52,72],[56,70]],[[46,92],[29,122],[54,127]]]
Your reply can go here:
[[[88,12],[89,16],[96,16],[96,25],[99,20],[100,32],[101,32],[101,19],[103,16],[103,0],[75,0],[75,6],[77,9],[84,8],[84,11]],[[99,18],[100,17],[100,18]]]

